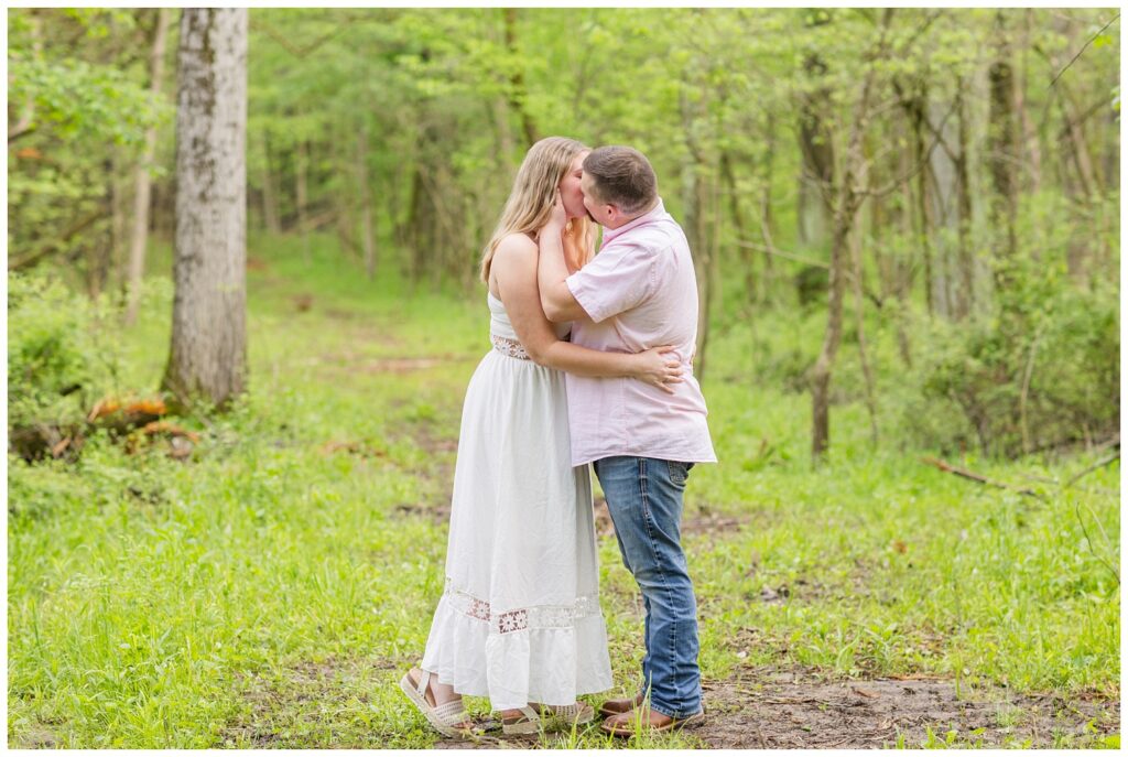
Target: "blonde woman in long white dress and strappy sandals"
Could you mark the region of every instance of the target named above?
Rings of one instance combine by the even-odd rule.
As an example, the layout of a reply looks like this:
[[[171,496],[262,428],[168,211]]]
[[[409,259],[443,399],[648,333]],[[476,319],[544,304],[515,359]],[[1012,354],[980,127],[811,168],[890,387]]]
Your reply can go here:
[[[464,694],[488,696],[505,733],[535,733],[589,722],[594,713],[576,696],[611,687],[591,482],[588,466],[571,465],[561,371],[671,391],[681,370],[670,347],[623,354],[570,344],[567,326],[541,310],[536,232],[557,191],[569,266],[592,253],[580,191],[587,153],[559,137],[532,146],[482,259],[494,349],[462,406],[446,590],[423,662],[399,683],[448,737],[473,732]]]

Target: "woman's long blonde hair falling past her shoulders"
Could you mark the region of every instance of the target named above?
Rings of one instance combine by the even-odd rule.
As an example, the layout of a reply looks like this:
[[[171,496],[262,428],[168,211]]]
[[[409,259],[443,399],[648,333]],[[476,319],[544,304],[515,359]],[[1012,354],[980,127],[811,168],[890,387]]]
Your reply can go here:
[[[548,222],[556,202],[556,188],[575,157],[590,149],[566,137],[546,137],[529,148],[490,244],[483,250],[482,281],[490,283],[490,264],[502,239],[511,234],[536,234]],[[593,225],[587,218],[569,221],[565,244],[571,240],[579,248],[578,262],[581,265],[591,259],[594,237]]]

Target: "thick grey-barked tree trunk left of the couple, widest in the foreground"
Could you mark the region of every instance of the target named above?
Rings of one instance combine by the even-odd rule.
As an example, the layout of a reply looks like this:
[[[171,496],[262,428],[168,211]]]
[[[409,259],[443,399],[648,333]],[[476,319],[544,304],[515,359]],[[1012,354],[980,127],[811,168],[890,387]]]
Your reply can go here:
[[[185,9],[176,122],[171,353],[177,405],[246,386],[247,10]]]

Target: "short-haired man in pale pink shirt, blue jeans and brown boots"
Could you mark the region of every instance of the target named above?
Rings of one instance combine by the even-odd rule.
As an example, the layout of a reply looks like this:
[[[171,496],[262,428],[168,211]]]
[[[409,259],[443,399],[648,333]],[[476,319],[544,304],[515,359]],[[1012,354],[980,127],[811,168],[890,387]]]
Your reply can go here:
[[[697,341],[693,258],[658,196],[654,169],[637,150],[602,147],[584,159],[581,187],[588,214],[605,227],[603,244],[569,275],[559,214],[541,231],[537,273],[545,314],[555,323],[574,322],[572,341],[596,350],[673,345],[685,370],[672,394],[628,379],[566,379],[572,464],[594,464],[623,563],[646,611],[642,689],[600,708],[605,731],[631,736],[636,723],[664,731],[704,716],[697,604],[680,526],[689,469],[716,456],[705,398],[688,370]]]

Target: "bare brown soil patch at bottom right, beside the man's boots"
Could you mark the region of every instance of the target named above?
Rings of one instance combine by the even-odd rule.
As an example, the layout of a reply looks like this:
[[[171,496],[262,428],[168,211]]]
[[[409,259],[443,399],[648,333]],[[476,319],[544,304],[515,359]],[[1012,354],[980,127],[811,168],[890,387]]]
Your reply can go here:
[[[908,747],[957,731],[957,743],[1051,747],[1055,737],[1084,746],[1119,733],[1119,701],[1024,696],[1006,689],[964,690],[950,680],[875,678],[828,680],[802,668],[743,669],[705,683],[707,719],[693,734],[703,746],[729,749]]]

